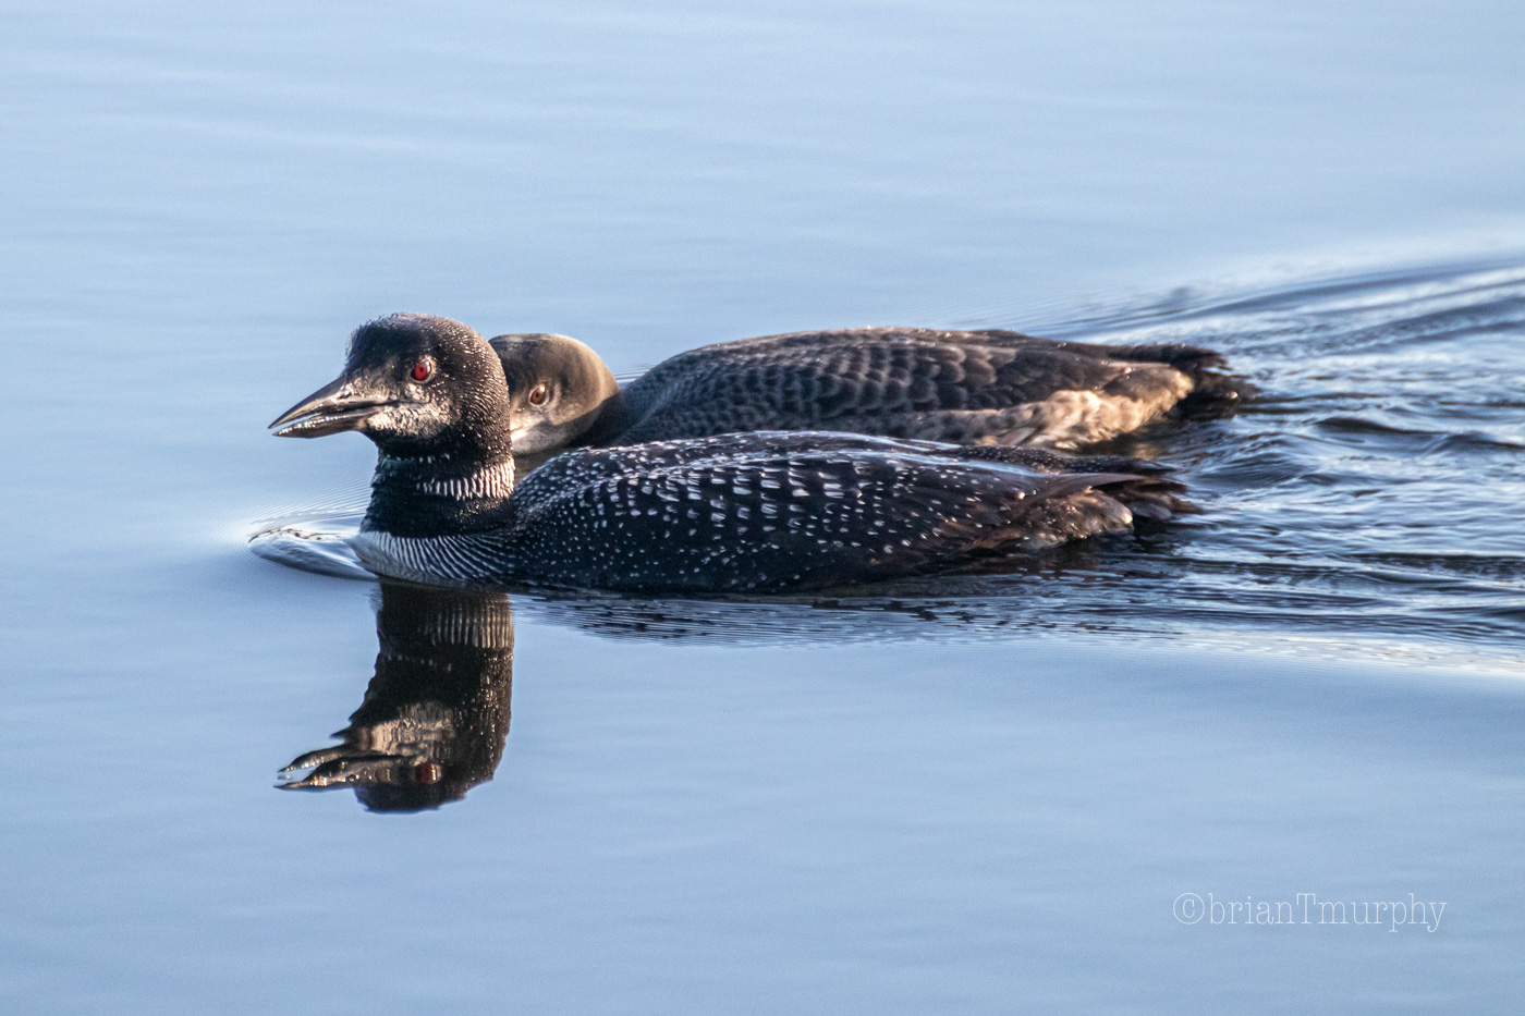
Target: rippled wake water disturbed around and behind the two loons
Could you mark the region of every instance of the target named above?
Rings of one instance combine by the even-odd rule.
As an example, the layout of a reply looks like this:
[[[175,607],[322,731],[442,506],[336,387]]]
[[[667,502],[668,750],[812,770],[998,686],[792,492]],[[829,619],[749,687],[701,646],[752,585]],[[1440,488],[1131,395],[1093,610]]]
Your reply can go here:
[[[515,604],[554,622],[639,638],[1084,630],[1519,659],[1525,265],[1368,275],[1229,299],[1177,291],[1150,308],[1055,331],[1214,346],[1261,386],[1231,418],[1173,424],[1106,449],[1180,467],[1205,508],[1200,519],[1066,548],[1016,572],[843,596],[526,593]],[[308,519],[293,523],[307,535],[336,522]],[[355,574],[336,542],[265,534],[256,549]]]

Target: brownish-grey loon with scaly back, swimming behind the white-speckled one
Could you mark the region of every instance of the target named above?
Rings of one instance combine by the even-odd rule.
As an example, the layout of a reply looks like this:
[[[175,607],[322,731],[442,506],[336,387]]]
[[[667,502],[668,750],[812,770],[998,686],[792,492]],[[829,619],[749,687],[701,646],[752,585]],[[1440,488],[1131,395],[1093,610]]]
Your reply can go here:
[[[741,339],[680,352],[624,391],[598,354],[569,336],[491,342],[522,453],[743,430],[1074,449],[1232,406],[1247,391],[1211,369],[1222,355],[1197,346],[1101,346],[999,330]]]

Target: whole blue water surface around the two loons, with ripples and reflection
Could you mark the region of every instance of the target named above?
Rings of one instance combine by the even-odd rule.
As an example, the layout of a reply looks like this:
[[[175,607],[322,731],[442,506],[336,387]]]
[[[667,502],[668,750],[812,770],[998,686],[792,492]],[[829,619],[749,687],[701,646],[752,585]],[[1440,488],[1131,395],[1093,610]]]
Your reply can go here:
[[[5,1011],[1517,1005],[1517,5],[0,17]],[[264,424],[392,310],[1264,394],[1119,442],[1200,519],[1016,575],[442,596],[249,543],[363,497]]]

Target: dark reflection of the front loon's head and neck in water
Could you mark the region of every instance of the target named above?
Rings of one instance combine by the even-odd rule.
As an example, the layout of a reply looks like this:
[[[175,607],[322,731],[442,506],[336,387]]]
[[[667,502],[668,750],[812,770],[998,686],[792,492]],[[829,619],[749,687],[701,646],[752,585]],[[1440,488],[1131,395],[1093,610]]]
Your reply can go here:
[[[514,619],[502,593],[381,586],[381,651],[343,743],[296,758],[282,790],[352,787],[372,812],[458,801],[491,780],[508,737]]]

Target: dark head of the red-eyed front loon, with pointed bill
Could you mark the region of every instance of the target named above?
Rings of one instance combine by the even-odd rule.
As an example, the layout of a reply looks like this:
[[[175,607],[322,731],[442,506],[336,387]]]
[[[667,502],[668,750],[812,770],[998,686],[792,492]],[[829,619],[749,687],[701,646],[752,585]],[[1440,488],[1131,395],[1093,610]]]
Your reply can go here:
[[[389,314],[349,339],[345,371],[270,426],[278,438],[358,430],[392,456],[508,452],[497,352],[461,322]]]

